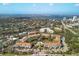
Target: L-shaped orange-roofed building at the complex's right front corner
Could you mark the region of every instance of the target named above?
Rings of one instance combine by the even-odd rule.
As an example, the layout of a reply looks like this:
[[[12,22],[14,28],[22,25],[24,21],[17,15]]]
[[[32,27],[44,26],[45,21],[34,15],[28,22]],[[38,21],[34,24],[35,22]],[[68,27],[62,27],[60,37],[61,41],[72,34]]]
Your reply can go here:
[[[53,35],[55,39],[52,42],[45,42],[44,47],[48,48],[58,48],[61,47],[60,35]]]

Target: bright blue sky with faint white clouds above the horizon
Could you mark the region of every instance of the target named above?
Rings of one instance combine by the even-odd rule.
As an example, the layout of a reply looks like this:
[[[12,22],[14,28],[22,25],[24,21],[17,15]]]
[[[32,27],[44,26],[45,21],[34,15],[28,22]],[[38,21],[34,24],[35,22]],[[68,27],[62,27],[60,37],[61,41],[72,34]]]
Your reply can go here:
[[[0,3],[0,14],[79,15],[77,3]]]

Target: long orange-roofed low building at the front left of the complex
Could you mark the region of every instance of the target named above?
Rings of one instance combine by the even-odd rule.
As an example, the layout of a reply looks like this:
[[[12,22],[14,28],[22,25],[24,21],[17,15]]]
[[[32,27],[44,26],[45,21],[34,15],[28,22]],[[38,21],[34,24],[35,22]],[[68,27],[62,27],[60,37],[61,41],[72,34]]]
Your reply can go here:
[[[31,43],[28,42],[17,42],[13,49],[17,52],[30,52],[31,51]]]

